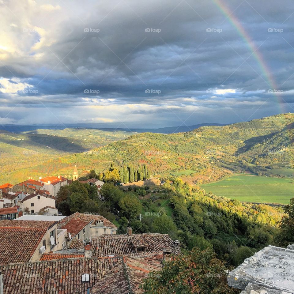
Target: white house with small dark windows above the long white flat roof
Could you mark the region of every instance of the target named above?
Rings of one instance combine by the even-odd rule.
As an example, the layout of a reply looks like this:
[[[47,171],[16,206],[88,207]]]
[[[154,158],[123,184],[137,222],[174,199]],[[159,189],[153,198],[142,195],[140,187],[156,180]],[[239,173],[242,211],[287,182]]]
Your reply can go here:
[[[55,206],[55,198],[48,191],[38,190],[27,195],[21,202],[21,210],[23,213],[48,215],[57,215],[58,210]]]

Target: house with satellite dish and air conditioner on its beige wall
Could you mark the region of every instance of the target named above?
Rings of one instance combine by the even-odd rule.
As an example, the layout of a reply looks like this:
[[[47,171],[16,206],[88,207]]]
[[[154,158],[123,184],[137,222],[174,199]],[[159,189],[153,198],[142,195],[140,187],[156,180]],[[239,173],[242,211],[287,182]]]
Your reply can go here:
[[[55,220],[1,220],[0,264],[38,261],[43,253],[66,249],[66,238]]]

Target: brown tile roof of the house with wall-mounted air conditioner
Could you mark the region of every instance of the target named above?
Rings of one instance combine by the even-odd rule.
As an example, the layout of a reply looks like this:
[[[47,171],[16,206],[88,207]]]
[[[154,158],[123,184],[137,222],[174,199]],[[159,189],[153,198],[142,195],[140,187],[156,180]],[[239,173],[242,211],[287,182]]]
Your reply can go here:
[[[46,232],[37,228],[0,227],[0,265],[28,262]]]

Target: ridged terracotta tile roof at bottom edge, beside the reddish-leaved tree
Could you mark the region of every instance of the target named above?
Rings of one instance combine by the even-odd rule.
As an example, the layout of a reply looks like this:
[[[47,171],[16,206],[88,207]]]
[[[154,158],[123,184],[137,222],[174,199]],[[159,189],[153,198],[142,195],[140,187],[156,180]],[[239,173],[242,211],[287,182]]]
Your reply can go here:
[[[142,280],[162,268],[162,254],[123,256],[92,288],[92,294],[142,294]],[[156,273],[152,273],[156,274]]]

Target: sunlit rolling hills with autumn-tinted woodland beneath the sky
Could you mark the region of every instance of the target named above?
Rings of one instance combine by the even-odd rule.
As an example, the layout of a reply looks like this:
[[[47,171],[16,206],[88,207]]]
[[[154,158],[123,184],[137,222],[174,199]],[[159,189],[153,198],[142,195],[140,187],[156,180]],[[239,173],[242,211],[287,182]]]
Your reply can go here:
[[[293,124],[294,114],[287,113],[177,134],[131,135],[89,129],[36,130],[14,137],[0,134],[5,166],[11,154],[18,156],[28,149],[38,152],[29,161],[22,158],[21,165],[5,170],[0,180],[14,182],[19,178],[16,174],[71,174],[74,164],[81,172],[92,168],[99,172],[111,163],[146,163],[153,175],[179,175],[198,185],[235,172],[289,176],[294,164]]]

